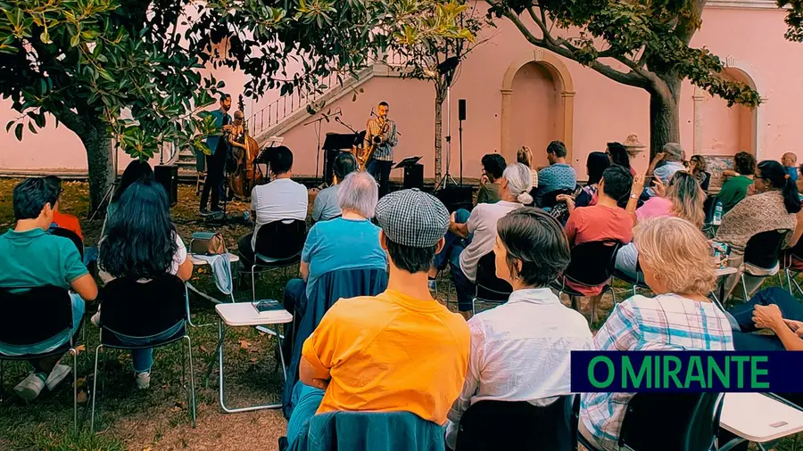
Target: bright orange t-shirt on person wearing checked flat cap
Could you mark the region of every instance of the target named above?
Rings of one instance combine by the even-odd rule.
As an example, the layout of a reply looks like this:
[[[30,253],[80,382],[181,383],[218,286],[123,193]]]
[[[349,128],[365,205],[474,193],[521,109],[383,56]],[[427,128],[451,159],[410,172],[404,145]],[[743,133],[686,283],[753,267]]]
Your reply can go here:
[[[406,411],[443,424],[463,388],[469,341],[462,316],[388,290],[338,300],[302,356],[331,376],[319,414]]]

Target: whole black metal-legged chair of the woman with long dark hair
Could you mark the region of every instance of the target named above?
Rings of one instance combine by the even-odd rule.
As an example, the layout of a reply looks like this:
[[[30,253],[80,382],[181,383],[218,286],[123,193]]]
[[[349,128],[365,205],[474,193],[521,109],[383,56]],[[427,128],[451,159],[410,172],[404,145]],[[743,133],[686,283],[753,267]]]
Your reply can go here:
[[[186,359],[189,360],[190,388],[187,391],[193,427],[195,428],[195,375],[193,369],[193,348],[186,334],[188,307],[184,283],[175,275],[163,275],[146,283],[128,278],[115,279],[106,283],[101,292],[100,344],[95,348],[95,372],[92,381],[91,430],[95,430],[95,400],[97,399],[97,363],[101,348],[146,349],[161,348],[172,343],[182,344],[186,340]],[[179,327],[180,324],[180,327]],[[153,340],[176,329],[168,337]],[[120,336],[126,337],[121,340]],[[147,344],[131,346],[130,340],[149,340]],[[186,389],[186,365],[181,360],[181,382]]]

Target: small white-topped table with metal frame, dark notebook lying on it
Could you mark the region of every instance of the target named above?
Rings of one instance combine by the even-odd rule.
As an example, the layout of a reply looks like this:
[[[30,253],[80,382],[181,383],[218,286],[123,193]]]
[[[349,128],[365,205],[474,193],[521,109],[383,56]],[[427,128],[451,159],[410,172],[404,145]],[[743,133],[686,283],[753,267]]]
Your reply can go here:
[[[293,321],[293,315],[291,315],[290,312],[284,308],[281,310],[259,313],[257,312],[256,308],[253,307],[251,302],[218,304],[215,306],[215,311],[218,313],[218,316],[220,316],[218,323],[218,393],[220,407],[223,409],[223,412],[226,412],[227,414],[235,414],[237,412],[251,412],[252,410],[281,408],[281,403],[239,408],[231,408],[226,406],[226,402],[224,400],[225,389],[223,384],[223,324],[226,324],[229,327],[287,324]],[[282,339],[278,333],[276,334],[276,337],[277,346],[279,349],[279,358],[281,359],[282,364],[282,375],[284,376],[285,380],[287,380],[285,355],[282,353]]]

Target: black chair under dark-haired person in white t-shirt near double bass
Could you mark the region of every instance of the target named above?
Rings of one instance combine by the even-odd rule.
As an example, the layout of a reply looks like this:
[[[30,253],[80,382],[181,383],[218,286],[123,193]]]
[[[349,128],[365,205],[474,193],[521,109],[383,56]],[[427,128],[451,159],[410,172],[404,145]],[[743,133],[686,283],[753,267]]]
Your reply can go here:
[[[286,268],[301,261],[307,223],[300,219],[284,219],[262,225],[257,234],[256,252],[251,266],[251,293],[256,300],[255,274],[264,270]],[[242,256],[241,256],[242,257]]]

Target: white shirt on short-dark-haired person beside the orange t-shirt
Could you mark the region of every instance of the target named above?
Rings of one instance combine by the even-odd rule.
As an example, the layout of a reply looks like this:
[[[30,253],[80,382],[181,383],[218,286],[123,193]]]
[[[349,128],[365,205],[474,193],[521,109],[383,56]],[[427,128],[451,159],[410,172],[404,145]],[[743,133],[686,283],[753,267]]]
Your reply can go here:
[[[506,304],[468,320],[468,329],[466,382],[447,415],[446,443],[452,449],[468,406],[485,399],[550,404],[571,393],[570,352],[592,349],[584,316],[561,304],[549,288],[513,291]]]

